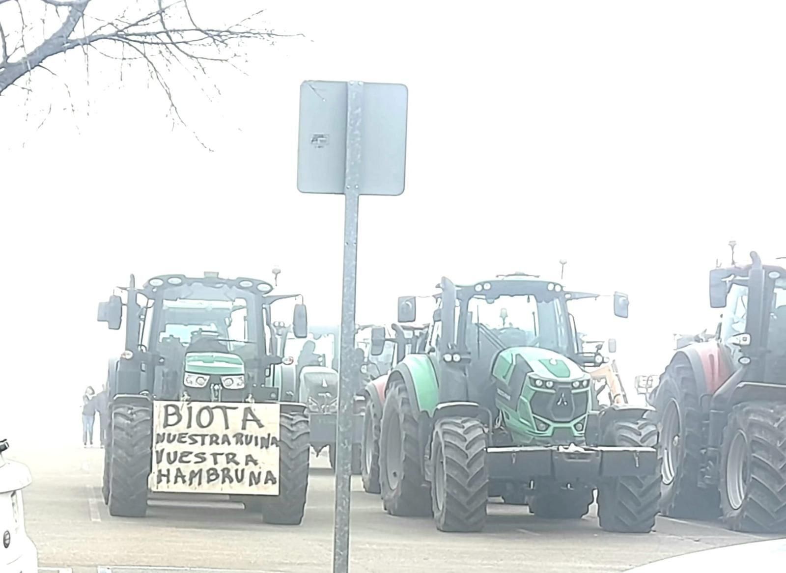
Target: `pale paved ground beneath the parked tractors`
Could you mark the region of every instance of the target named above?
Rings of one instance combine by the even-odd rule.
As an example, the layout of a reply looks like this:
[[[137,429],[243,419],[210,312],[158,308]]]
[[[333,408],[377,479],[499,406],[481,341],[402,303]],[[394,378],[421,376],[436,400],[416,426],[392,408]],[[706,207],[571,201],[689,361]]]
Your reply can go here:
[[[229,501],[185,503],[182,498],[156,501],[145,520],[111,517],[101,500],[102,450],[19,446],[13,454],[33,472],[26,517],[42,567],[71,568],[71,573],[156,567],[330,571],[333,478],[324,456],[313,461],[303,525],[276,527]],[[387,516],[376,496],[362,492],[359,479],[353,483],[352,571],[503,571],[532,565],[542,573],[624,571],[666,556],[762,538],[714,523],[664,518],[652,534],[609,534],[597,527],[594,514],[575,521],[539,520],[526,508],[501,504],[491,505],[483,533],[443,534],[429,519]]]

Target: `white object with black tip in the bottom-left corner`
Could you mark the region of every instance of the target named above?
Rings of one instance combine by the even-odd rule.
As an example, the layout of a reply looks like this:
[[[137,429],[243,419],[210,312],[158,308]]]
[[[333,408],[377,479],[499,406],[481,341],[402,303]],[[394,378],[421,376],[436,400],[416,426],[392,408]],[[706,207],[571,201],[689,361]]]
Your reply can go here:
[[[17,461],[6,460],[6,440],[0,440],[0,571],[36,573],[39,553],[24,531],[22,489],[32,481],[30,470]]]

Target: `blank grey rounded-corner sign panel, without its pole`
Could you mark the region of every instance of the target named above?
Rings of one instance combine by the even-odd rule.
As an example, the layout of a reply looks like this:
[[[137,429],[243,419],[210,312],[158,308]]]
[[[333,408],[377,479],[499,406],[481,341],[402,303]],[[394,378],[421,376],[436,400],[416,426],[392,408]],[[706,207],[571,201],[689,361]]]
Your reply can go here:
[[[356,83],[360,116],[361,195],[404,191],[407,89],[400,83]],[[297,188],[343,193],[347,159],[347,82],[300,85]]]

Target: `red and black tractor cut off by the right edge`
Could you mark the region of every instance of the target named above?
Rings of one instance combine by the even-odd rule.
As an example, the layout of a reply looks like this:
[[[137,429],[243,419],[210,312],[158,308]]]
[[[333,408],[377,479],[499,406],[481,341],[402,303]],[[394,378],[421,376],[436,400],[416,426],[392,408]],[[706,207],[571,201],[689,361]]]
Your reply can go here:
[[[661,513],[786,532],[786,269],[752,252],[711,270],[710,306],[723,309],[714,339],[678,348],[648,399]]]

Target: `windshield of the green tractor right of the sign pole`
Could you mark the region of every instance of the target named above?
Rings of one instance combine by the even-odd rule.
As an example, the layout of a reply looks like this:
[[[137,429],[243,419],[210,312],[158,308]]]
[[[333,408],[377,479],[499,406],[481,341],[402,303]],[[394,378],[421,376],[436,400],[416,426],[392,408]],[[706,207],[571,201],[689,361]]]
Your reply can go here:
[[[560,354],[573,350],[564,299],[476,296],[469,300],[468,312],[468,329],[482,329],[503,347],[540,347]]]

